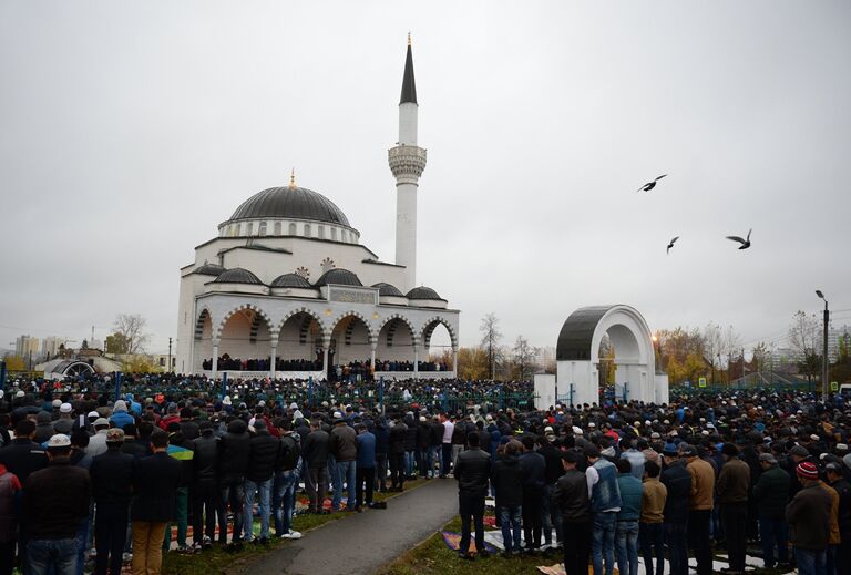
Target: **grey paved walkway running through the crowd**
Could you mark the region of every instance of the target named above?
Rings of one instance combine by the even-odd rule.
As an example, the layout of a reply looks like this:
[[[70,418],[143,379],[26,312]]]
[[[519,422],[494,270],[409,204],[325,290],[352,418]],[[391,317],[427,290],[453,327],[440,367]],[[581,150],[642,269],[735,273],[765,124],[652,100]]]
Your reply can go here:
[[[442,527],[458,513],[458,483],[432,480],[369,510],[335,521],[264,555],[249,575],[356,575],[375,573]]]

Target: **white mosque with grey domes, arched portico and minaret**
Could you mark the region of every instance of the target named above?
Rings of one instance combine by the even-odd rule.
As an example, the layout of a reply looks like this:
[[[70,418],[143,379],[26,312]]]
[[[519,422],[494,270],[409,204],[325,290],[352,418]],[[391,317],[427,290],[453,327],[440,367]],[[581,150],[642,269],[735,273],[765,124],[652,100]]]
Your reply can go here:
[[[399,102],[396,261],[360,243],[346,214],[318,192],[270,187],[240,204],[181,268],[175,369],[214,379],[334,379],[341,367],[387,378],[454,377],[459,310],[417,284],[417,143],[410,38]],[[449,332],[450,364],[428,362],[432,335]]]

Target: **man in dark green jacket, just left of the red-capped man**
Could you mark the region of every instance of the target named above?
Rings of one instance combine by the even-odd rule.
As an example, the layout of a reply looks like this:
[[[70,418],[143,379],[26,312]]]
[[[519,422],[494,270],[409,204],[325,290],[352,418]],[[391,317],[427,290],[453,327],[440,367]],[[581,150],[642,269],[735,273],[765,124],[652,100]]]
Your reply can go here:
[[[767,569],[775,568],[778,562],[780,567],[787,567],[789,528],[786,524],[786,505],[789,503],[789,474],[780,469],[777,458],[771,453],[760,454],[759,465],[762,473],[753,485],[751,496],[759,516],[762,561]]]

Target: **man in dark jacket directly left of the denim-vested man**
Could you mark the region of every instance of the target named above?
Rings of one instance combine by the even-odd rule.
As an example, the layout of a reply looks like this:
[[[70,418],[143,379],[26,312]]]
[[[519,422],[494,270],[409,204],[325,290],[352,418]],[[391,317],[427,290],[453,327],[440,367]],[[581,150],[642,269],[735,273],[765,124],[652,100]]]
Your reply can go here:
[[[576,469],[582,459],[578,451],[564,452],[564,475],[555,483],[552,497],[553,509],[562,514],[564,571],[567,575],[587,575],[591,555],[588,480]]]

